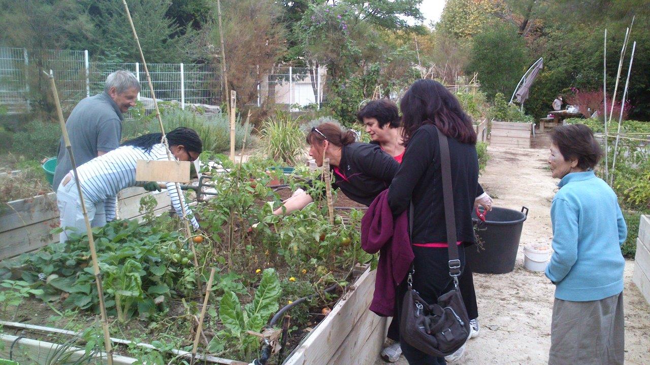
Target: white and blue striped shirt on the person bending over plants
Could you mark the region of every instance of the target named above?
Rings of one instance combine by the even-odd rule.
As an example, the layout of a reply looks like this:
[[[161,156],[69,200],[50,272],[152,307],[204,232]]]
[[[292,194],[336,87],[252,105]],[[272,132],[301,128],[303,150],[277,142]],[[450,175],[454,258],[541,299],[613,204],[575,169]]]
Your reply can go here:
[[[117,194],[120,190],[147,183],[146,181],[135,180],[135,166],[137,160],[168,160],[164,144],[155,144],[151,151],[125,145],[114,149],[104,155],[93,158],[77,168],[79,173],[79,185],[86,199],[93,203],[106,201],[106,220],[111,221],[115,218],[115,206]],[[172,206],[176,213],[183,217],[180,199],[185,202],[185,197],[177,194],[175,183],[166,183],[167,193],[169,194]],[[185,213],[192,214],[187,203],[185,204]],[[198,222],[192,217],[192,225],[198,228]]]

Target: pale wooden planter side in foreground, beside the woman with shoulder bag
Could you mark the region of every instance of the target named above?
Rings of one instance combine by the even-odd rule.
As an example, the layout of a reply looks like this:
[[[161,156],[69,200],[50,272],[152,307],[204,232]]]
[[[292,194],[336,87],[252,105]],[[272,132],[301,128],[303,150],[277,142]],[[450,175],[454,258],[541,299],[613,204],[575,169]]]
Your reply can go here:
[[[389,323],[368,309],[376,275],[368,268],[283,365],[374,364]]]

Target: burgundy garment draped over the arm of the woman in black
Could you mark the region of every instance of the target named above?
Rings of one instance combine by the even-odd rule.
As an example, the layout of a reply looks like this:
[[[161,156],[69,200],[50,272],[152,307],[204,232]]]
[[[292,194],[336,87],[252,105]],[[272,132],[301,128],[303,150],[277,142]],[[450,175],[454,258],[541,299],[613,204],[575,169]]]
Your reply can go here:
[[[361,247],[367,253],[380,251],[370,310],[391,317],[395,314],[396,287],[406,277],[414,256],[406,211],[393,221],[388,190],[377,195],[361,219]]]

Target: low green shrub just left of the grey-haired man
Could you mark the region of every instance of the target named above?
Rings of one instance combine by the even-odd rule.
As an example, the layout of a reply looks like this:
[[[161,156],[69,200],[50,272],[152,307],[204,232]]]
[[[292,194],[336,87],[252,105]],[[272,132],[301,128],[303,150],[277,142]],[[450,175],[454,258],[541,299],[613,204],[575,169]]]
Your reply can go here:
[[[41,160],[57,155],[61,130],[56,123],[34,120],[14,134],[12,151],[27,160]]]

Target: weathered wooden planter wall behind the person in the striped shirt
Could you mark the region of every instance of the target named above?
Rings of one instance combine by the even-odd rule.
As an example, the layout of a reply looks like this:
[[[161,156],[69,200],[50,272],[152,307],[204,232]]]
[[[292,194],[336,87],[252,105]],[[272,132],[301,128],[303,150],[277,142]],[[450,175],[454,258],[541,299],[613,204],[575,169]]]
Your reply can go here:
[[[157,199],[156,214],[169,209],[170,199],[166,191],[147,192],[143,188],[128,188],[120,194],[118,216],[123,219],[142,217],[140,198],[146,194]],[[57,194],[10,201],[0,214],[0,260],[59,242],[58,234],[50,234],[57,227]]]

